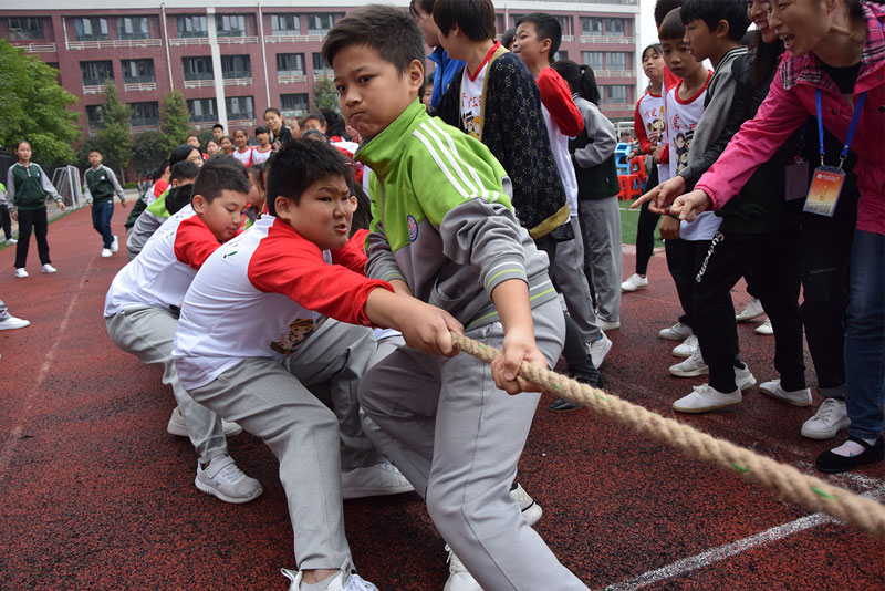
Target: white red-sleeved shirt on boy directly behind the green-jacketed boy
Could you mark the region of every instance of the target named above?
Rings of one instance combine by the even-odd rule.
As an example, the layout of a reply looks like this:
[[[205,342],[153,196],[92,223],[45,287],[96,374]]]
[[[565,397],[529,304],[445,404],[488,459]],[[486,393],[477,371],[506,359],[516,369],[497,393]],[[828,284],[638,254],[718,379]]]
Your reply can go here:
[[[248,357],[282,361],[325,317],[369,325],[369,292],[393,288],[363,276],[365,263],[358,238],[322,251],[281,219],[261,216],[209,257],[185,296],[173,348],[181,385],[204,386]]]

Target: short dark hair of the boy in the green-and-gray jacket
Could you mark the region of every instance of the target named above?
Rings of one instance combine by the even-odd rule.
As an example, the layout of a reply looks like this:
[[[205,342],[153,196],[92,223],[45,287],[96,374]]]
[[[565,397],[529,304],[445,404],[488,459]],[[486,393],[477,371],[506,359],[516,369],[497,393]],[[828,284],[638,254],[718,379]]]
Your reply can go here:
[[[399,9],[369,4],[335,23],[323,41],[323,59],[331,64],[341,50],[365,45],[404,73],[418,60],[424,64],[424,35],[415,21]]]

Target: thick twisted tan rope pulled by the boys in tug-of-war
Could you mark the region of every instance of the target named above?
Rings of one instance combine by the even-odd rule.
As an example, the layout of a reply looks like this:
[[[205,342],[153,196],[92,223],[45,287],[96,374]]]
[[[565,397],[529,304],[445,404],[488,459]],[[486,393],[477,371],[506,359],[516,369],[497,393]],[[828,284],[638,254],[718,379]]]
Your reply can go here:
[[[501,352],[462,334],[451,333],[459,351],[491,363]],[[650,435],[686,453],[752,480],[782,498],[812,511],[821,511],[885,541],[885,506],[809,476],[723,439],[717,439],[688,425],[665,418],[642,406],[622,401],[602,390],[582,384],[545,367],[523,362],[519,374],[556,395],[576,402],[624,425]]]

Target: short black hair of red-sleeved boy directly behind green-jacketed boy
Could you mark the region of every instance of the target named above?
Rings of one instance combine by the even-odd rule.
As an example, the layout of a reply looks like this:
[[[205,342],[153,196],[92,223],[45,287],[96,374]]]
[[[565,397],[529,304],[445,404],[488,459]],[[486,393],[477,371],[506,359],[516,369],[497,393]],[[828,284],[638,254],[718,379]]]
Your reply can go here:
[[[298,204],[308,187],[329,176],[351,180],[352,167],[341,152],[323,142],[287,142],[273,155],[268,172],[268,212],[277,215],[277,197],[285,197]]]

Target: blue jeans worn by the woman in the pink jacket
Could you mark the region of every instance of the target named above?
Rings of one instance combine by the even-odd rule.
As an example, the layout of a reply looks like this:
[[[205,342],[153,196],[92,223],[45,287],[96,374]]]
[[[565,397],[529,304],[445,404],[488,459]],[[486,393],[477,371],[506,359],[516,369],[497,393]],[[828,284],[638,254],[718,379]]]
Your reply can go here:
[[[848,434],[873,439],[885,428],[885,236],[854,232],[845,324]]]

